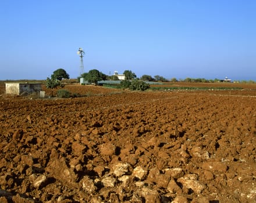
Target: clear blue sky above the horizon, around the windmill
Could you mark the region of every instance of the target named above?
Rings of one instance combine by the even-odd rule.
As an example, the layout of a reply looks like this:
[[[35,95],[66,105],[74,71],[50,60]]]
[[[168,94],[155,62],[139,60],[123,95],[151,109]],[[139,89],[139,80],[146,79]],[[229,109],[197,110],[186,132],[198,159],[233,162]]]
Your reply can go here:
[[[255,0],[1,0],[0,79],[63,68],[256,81]]]

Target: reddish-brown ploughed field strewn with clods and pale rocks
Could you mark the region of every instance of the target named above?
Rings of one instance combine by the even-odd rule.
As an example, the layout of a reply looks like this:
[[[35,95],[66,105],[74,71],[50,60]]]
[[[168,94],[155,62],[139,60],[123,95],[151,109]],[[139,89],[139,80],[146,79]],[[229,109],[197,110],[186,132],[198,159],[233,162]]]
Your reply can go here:
[[[256,201],[256,88],[65,89],[1,95],[0,202]]]

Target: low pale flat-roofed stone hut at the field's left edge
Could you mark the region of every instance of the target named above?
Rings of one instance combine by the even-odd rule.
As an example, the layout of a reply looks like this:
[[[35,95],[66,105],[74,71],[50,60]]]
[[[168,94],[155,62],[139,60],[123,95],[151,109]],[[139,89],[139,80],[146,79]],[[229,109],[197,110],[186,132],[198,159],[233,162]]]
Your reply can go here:
[[[27,95],[31,93],[39,93],[42,90],[41,83],[30,82],[6,82],[5,93],[14,95]]]

